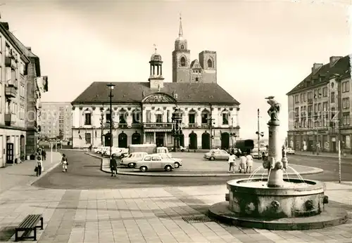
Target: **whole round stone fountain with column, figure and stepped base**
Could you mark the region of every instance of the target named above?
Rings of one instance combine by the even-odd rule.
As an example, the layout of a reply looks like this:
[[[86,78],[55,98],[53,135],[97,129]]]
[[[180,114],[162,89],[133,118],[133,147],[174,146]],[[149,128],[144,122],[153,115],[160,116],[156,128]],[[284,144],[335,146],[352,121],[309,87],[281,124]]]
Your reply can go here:
[[[279,145],[280,105],[268,98],[270,109],[268,157],[263,168],[267,178],[230,180],[226,201],[213,204],[208,213],[226,223],[269,230],[307,230],[346,223],[347,212],[336,204],[325,206],[325,184],[316,180],[284,178],[289,168],[286,153]]]

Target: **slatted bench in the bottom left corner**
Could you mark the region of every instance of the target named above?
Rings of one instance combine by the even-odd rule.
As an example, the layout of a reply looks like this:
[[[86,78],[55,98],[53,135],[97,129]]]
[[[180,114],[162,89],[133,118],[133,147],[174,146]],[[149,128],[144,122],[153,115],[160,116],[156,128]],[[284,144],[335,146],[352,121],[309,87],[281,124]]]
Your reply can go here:
[[[40,221],[40,225],[38,225]],[[43,216],[42,214],[30,214],[15,228],[15,242],[19,239],[33,239],[37,240],[37,228],[43,230]],[[21,237],[18,237],[18,232],[24,231]],[[29,236],[30,232],[34,233],[33,236]]]

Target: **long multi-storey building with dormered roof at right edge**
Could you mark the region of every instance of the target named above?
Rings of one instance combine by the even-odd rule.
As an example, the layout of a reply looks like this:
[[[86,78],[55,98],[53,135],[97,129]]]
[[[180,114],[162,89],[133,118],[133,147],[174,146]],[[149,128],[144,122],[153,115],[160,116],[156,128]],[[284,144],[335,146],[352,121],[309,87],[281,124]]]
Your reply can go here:
[[[289,146],[294,150],[351,151],[350,56],[314,63],[311,73],[288,96]]]

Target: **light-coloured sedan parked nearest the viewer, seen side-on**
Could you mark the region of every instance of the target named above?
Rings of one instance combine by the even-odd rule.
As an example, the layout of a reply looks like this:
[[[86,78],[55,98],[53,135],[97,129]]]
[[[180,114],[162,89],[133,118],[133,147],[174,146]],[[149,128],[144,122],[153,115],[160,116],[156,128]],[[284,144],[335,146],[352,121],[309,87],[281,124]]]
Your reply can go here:
[[[135,168],[142,172],[148,170],[165,170],[172,171],[175,168],[174,162],[170,159],[162,159],[160,155],[146,155],[142,160],[136,162]]]

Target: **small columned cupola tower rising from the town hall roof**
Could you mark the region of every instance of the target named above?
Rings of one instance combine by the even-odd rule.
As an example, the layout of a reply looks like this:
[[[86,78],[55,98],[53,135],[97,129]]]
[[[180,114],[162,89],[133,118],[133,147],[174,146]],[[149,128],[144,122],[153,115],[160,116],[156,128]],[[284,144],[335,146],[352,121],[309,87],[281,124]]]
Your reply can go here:
[[[163,78],[163,60],[161,60],[161,55],[156,53],[156,46],[154,45],[155,52],[151,55],[151,60],[149,61],[151,67],[151,74],[149,76],[149,86],[150,88],[163,88],[164,78]]]

